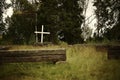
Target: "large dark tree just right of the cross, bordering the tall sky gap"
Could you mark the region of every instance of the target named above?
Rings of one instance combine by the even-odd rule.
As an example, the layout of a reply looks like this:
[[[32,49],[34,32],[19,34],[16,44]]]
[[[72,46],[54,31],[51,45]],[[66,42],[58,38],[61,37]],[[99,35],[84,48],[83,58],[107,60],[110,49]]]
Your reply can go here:
[[[45,25],[51,32],[50,41],[57,43],[58,32],[64,35],[63,41],[69,44],[83,42],[81,38],[82,8],[79,0],[42,0],[38,12],[39,25]]]

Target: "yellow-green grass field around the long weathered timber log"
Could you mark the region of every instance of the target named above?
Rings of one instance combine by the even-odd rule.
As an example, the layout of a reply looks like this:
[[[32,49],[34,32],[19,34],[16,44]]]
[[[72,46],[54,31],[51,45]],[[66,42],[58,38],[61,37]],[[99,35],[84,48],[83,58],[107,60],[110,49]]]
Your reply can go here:
[[[66,62],[2,64],[0,80],[120,80],[120,60],[108,60],[107,50],[98,50],[94,46],[87,45],[50,48],[58,47],[66,48]],[[14,46],[12,49],[14,48],[35,47]],[[42,47],[37,47],[39,48]]]

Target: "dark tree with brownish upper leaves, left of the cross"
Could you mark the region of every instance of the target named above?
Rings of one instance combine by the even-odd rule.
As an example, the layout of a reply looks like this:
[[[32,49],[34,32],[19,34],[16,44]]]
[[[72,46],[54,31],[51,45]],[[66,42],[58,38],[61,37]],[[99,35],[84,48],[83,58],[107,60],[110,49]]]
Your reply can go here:
[[[29,44],[35,26],[35,8],[27,0],[13,1],[14,14],[10,20],[8,36],[15,44]]]

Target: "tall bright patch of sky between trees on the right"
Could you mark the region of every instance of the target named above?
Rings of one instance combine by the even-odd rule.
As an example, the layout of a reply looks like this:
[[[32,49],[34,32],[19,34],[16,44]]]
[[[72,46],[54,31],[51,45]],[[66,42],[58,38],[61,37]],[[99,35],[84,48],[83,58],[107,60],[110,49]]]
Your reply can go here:
[[[88,6],[87,6],[87,9],[86,9],[86,13],[85,13],[85,10],[83,11],[83,15],[85,16],[85,25],[82,24],[82,27],[89,27],[90,29],[92,29],[92,35],[91,37],[93,37],[94,35],[94,32],[96,30],[96,27],[97,27],[97,18],[96,18],[96,15],[95,15],[95,10],[96,10],[96,7],[93,6],[93,2],[94,0],[86,0],[86,2],[88,1]],[[86,3],[87,4],[87,3]],[[84,38],[88,38],[88,36],[86,36],[86,33],[83,33],[84,35]]]

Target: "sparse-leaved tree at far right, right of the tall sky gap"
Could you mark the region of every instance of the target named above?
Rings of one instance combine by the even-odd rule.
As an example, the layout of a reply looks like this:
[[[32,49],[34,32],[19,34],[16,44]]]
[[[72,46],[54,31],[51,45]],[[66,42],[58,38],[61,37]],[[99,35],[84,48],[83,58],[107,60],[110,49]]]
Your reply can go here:
[[[105,36],[109,40],[120,37],[120,1],[119,0],[95,0],[96,15],[98,18],[97,34]],[[120,38],[119,38],[120,39]]]

